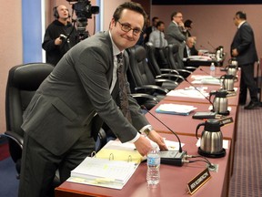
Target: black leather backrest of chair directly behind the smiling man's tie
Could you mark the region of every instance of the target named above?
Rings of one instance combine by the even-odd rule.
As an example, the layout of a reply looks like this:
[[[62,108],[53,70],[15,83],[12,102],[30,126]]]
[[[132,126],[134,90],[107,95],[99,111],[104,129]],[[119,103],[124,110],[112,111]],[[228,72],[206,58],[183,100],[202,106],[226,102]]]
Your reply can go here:
[[[146,49],[142,46],[134,46],[127,49],[129,55],[128,81],[130,88],[144,85],[155,85],[155,77],[146,62]],[[134,83],[132,85],[132,83]]]

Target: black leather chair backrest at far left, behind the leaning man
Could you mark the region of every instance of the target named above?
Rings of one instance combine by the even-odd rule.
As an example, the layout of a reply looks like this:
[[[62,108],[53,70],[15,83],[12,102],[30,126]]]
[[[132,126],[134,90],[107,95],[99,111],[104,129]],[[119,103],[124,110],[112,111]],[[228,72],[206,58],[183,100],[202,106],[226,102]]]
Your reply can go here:
[[[21,137],[24,136],[24,131],[21,129],[23,113],[33,98],[35,90],[53,69],[54,66],[51,64],[30,63],[15,66],[9,70],[5,89],[6,130],[14,131]],[[17,146],[14,141],[9,140],[9,150],[14,161],[21,158],[21,148]]]

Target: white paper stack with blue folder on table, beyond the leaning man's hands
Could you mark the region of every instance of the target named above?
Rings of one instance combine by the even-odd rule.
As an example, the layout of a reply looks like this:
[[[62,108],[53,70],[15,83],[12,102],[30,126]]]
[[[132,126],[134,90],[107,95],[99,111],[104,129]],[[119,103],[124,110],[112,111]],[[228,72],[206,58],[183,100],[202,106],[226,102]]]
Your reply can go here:
[[[189,105],[178,105],[178,104],[161,104],[157,109],[156,113],[166,113],[174,115],[187,116],[191,111],[195,110],[194,106]]]

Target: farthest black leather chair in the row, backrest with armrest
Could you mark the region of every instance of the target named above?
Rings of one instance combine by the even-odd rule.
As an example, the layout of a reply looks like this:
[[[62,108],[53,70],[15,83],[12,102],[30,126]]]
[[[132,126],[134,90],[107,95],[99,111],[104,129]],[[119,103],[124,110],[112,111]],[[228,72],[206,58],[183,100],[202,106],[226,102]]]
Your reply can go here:
[[[196,67],[184,67],[183,60],[179,57],[178,51],[179,46],[175,44],[169,44],[166,47],[168,65],[171,69],[177,70],[179,75],[187,78]]]

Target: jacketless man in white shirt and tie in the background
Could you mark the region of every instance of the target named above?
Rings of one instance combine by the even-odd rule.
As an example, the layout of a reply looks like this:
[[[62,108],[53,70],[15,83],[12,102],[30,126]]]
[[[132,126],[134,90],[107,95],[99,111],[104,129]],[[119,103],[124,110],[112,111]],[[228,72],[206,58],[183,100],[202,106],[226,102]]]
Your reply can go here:
[[[167,46],[164,30],[165,23],[163,21],[158,21],[156,23],[156,30],[150,34],[148,40],[153,44],[154,47],[159,48]]]

